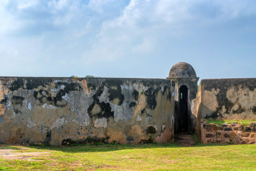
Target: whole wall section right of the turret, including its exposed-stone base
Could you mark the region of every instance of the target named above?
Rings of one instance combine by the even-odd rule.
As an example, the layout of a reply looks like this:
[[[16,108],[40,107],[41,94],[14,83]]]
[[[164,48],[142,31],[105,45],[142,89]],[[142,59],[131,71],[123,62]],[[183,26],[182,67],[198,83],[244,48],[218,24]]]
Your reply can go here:
[[[256,121],[256,78],[202,79],[197,98],[191,102],[197,118],[197,136],[202,143],[256,143],[255,123],[207,124],[211,120]],[[239,129],[238,129],[239,128]]]

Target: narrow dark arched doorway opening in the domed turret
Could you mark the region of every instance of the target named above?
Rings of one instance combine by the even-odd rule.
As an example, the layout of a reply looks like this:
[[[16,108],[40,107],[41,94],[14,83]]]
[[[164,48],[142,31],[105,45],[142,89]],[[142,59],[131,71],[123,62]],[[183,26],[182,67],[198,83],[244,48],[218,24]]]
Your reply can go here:
[[[179,88],[179,132],[187,132],[189,128],[187,94],[187,86],[182,85]]]

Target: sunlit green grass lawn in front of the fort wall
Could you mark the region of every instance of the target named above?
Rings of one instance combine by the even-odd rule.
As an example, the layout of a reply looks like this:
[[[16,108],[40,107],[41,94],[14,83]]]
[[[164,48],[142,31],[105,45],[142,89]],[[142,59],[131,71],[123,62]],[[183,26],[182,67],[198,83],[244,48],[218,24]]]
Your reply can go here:
[[[21,148],[3,145],[0,148]],[[26,148],[26,147],[25,147]],[[172,144],[81,145],[66,147],[28,146],[28,152],[51,152],[31,160],[0,157],[0,170],[230,170],[255,171],[256,145],[201,145],[182,147]]]

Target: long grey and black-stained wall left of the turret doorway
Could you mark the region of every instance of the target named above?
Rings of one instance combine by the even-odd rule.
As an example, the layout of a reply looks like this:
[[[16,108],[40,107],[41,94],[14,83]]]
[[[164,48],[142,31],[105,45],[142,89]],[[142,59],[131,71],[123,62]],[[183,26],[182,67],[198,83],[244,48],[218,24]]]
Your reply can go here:
[[[0,77],[0,143],[169,143],[167,79]]]

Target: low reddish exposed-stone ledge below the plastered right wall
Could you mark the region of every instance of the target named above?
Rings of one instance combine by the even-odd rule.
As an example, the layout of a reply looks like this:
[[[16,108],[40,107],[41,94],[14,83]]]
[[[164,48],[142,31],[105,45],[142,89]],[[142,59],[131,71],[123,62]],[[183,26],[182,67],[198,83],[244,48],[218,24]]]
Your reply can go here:
[[[202,119],[201,124],[202,143],[230,143],[230,144],[255,144],[256,128],[255,123],[240,125],[239,123],[207,124]]]

